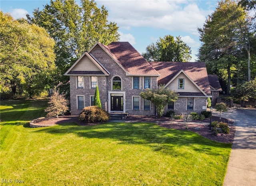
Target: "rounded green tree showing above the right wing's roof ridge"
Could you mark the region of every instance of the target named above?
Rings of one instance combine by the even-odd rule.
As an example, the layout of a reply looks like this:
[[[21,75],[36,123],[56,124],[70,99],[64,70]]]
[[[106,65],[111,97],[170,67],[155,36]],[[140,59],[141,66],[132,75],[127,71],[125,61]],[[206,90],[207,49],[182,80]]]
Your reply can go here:
[[[185,62],[191,59],[191,49],[178,36],[174,39],[171,35],[159,38],[156,44],[146,47],[142,56],[148,61],[177,61]]]

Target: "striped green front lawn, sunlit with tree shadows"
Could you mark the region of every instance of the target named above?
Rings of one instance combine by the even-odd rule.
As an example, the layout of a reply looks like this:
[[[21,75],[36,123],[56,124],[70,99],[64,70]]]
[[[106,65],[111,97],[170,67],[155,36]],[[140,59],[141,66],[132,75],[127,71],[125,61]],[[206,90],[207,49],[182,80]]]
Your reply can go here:
[[[45,115],[46,103],[1,101],[1,180],[37,186],[223,184],[231,144],[153,123],[28,128]]]

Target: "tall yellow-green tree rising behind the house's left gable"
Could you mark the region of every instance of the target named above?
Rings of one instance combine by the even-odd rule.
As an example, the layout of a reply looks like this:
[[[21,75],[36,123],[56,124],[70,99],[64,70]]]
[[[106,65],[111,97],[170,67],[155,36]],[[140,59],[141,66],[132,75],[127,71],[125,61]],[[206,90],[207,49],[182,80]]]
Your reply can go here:
[[[54,38],[56,46],[57,81],[68,81],[63,74],[97,41],[109,44],[119,40],[116,23],[109,22],[104,6],[97,7],[94,0],[51,0],[43,10],[36,9],[27,15],[30,23],[45,28]],[[56,82],[58,83],[58,82]]]

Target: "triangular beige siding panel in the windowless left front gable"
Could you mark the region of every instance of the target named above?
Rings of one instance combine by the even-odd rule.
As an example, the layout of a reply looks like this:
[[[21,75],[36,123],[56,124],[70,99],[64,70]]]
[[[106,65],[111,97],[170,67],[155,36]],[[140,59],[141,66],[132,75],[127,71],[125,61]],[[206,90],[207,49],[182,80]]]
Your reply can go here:
[[[101,71],[86,55],[80,59],[72,71]]]

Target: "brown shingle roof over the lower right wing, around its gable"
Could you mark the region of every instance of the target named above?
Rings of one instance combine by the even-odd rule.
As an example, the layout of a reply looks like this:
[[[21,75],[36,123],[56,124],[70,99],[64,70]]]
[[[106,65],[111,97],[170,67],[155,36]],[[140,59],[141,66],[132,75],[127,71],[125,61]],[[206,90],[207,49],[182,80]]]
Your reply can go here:
[[[160,74],[158,84],[166,85],[179,73],[184,72],[206,95],[211,95],[204,62],[150,62],[150,65]]]

